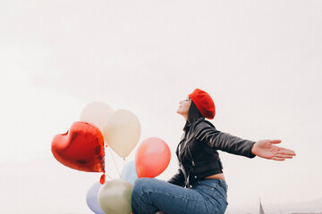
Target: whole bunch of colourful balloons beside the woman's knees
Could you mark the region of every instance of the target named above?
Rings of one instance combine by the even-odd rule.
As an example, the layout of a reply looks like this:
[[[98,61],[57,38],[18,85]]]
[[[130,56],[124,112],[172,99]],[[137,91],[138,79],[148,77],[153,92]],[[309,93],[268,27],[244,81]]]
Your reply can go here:
[[[138,146],[135,161],[123,168],[121,178],[105,181],[105,146],[124,160],[140,141],[140,121],[127,110],[106,103],[89,103],[64,134],[54,136],[51,150],[64,166],[87,172],[103,172],[100,182],[89,188],[86,202],[97,214],[130,214],[131,187],[140,177],[157,177],[169,165],[170,149],[158,137],[148,137]],[[105,145],[106,143],[106,145]]]

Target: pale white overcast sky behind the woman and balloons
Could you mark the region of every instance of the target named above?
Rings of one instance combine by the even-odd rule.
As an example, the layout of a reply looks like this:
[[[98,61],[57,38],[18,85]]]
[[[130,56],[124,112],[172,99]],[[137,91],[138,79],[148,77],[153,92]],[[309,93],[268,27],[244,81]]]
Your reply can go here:
[[[175,111],[195,87],[214,98],[219,130],[297,152],[285,162],[221,152],[231,208],[320,198],[321,11],[318,0],[0,0],[0,212],[90,212],[100,174],[64,167],[50,145],[93,101],[134,112],[140,141],[163,138],[173,156],[159,178],[171,177]]]

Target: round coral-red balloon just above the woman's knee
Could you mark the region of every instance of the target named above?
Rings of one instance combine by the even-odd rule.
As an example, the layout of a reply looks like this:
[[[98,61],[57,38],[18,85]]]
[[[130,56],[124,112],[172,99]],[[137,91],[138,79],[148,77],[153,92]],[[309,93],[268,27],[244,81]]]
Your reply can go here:
[[[135,154],[135,169],[138,177],[157,177],[169,165],[170,148],[158,137],[149,137],[141,142]]]

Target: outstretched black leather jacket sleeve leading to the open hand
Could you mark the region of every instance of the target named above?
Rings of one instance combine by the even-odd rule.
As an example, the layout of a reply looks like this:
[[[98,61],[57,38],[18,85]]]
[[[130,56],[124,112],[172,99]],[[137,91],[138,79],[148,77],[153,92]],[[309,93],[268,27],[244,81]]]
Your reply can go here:
[[[250,152],[251,146],[256,142],[244,140],[238,136],[220,132],[207,123],[200,123],[196,128],[197,140],[209,144],[216,150],[254,158],[256,155]]]

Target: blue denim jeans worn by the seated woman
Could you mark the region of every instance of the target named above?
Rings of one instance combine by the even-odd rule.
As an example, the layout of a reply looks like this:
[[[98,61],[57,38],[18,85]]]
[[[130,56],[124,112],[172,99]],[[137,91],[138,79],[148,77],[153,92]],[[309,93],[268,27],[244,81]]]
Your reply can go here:
[[[224,180],[204,179],[183,188],[156,178],[140,178],[133,185],[133,214],[208,214],[225,213],[227,185]]]

